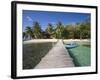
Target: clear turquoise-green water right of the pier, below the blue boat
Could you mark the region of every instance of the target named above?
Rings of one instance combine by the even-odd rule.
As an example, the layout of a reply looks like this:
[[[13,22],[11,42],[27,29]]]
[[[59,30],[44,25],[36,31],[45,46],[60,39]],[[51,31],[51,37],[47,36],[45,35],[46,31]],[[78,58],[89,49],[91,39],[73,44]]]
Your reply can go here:
[[[91,65],[91,50],[89,45],[79,45],[76,48],[68,49],[73,58],[75,66]]]

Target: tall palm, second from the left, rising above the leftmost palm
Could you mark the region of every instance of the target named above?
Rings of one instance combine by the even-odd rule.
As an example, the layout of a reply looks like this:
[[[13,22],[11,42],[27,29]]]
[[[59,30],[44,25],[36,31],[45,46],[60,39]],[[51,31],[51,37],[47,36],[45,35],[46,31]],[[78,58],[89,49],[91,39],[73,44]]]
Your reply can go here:
[[[33,32],[36,39],[42,38],[42,29],[37,21],[33,22]]]

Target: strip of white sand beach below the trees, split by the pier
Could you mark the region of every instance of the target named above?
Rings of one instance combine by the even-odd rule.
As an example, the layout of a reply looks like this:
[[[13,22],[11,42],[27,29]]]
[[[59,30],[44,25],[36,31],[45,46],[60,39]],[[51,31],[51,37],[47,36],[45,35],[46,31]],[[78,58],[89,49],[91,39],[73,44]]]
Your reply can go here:
[[[23,41],[23,44],[30,44],[30,43],[45,43],[45,42],[57,42],[59,39],[32,39]],[[64,42],[71,42],[71,41],[79,41],[79,42],[90,42],[90,39],[63,39]]]

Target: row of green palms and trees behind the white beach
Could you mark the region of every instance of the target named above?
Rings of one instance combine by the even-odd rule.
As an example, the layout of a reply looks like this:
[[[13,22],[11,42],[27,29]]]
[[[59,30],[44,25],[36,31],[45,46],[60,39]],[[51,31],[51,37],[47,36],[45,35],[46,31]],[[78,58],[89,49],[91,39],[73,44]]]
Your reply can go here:
[[[23,32],[23,40],[27,39],[90,39],[90,21],[85,20],[76,24],[63,25],[58,22],[56,25],[48,23],[45,30],[41,29],[39,22],[33,22]]]

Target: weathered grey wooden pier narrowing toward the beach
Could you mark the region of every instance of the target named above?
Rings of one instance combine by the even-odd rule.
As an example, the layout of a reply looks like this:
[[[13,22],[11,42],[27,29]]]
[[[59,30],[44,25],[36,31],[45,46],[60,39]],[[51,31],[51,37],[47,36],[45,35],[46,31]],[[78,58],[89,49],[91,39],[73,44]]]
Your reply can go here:
[[[35,69],[41,68],[65,68],[74,67],[73,59],[64,47],[63,41],[59,40],[55,46],[44,56]]]

